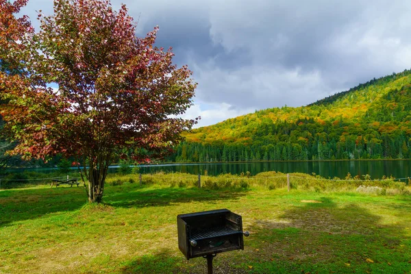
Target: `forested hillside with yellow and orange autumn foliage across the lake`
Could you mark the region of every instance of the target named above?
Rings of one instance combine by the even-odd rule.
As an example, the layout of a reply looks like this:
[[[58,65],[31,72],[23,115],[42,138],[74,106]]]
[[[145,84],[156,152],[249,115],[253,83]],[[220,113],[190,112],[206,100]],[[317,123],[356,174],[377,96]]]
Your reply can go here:
[[[175,162],[411,158],[411,71],[186,134]]]

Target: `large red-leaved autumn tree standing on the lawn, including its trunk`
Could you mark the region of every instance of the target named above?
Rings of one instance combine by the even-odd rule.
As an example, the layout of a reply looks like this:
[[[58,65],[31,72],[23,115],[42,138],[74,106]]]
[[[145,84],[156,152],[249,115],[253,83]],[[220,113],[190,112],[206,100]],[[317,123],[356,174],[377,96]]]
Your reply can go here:
[[[18,53],[29,87],[6,92],[14,107],[6,128],[21,140],[12,153],[75,157],[89,201],[101,202],[116,153],[162,157],[192,127],[176,117],[192,105],[196,84],[187,66],[173,64],[171,48],[155,47],[158,27],[136,37],[125,5],[114,11],[108,0],[55,0],[54,14],[39,17],[40,32],[26,36],[28,49]]]

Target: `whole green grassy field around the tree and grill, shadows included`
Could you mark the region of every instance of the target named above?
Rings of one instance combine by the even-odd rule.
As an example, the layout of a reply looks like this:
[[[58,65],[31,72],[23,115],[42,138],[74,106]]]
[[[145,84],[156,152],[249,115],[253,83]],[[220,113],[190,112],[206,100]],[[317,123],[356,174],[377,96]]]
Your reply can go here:
[[[0,273],[206,273],[205,259],[178,250],[176,216],[219,208],[251,235],[244,251],[216,256],[214,273],[411,273],[410,188],[294,181],[287,192],[227,177],[198,189],[195,176],[169,176],[111,177],[99,206],[81,187],[0,190]]]

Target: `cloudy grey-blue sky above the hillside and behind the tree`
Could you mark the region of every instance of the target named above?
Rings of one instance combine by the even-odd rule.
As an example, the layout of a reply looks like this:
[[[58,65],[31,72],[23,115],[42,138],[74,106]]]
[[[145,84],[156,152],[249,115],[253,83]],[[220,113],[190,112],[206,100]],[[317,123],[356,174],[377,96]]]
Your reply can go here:
[[[211,125],[254,110],[312,103],[373,77],[411,67],[411,1],[112,0],[138,20],[137,35],[160,26],[199,83],[184,115]],[[51,14],[51,0],[22,11]]]

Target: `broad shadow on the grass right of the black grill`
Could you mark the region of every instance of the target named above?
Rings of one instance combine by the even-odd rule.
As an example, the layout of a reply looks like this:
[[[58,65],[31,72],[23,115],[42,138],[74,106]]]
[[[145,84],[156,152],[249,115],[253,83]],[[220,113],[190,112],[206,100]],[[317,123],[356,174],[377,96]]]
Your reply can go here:
[[[264,250],[252,273],[406,273],[411,239],[358,203],[301,201],[276,221],[256,220],[254,247]],[[393,207],[392,210],[394,210]],[[402,208],[401,214],[409,208]],[[408,213],[409,214],[409,213]],[[263,243],[264,242],[264,243]]]

